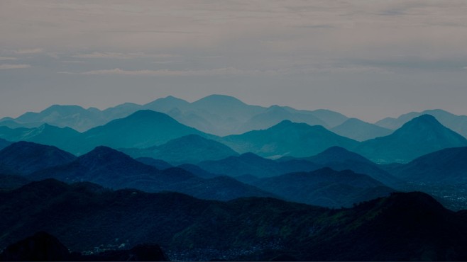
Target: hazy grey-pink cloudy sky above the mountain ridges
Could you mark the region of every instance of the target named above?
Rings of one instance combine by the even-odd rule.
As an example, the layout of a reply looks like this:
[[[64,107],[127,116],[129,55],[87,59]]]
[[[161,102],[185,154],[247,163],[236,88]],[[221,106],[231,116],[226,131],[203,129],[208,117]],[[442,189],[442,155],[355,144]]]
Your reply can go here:
[[[467,115],[467,1],[1,0],[0,118],[212,93]]]

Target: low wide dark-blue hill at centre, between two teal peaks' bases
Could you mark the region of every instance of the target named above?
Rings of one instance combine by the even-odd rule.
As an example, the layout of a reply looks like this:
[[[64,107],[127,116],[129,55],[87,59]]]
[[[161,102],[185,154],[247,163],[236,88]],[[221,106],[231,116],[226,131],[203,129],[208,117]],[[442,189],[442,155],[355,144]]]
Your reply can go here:
[[[264,159],[253,153],[241,154],[241,156],[229,156],[217,161],[202,161],[197,164],[209,173],[221,173],[228,176],[242,176],[250,174],[258,177],[278,176],[283,173],[296,171],[312,171],[322,166],[309,161],[292,159],[290,161],[274,161]]]

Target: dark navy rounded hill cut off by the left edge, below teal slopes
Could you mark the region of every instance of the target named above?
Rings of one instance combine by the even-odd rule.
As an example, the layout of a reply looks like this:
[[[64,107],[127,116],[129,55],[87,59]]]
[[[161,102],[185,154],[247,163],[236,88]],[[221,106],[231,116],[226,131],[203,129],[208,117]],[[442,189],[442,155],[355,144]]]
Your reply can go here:
[[[0,151],[0,165],[26,175],[51,166],[70,163],[76,156],[57,147],[33,142],[16,142]]]

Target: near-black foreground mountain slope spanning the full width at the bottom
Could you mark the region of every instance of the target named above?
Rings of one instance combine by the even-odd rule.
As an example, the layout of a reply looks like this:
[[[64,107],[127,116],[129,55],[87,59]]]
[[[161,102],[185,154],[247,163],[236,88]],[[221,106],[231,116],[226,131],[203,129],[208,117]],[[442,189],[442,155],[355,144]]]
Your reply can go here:
[[[47,180],[0,193],[0,200],[1,249],[43,230],[74,251],[150,242],[171,260],[185,261],[467,258],[466,217],[424,193],[395,193],[329,210],[272,198],[222,203]]]

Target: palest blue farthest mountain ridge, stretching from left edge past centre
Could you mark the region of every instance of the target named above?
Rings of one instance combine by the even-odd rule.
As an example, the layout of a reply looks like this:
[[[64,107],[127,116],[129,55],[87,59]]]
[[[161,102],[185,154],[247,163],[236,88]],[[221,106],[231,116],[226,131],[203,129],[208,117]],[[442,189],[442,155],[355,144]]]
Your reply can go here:
[[[203,132],[213,135],[232,135],[243,131],[250,131],[251,128],[270,127],[282,120],[304,120],[312,121],[325,126],[334,127],[346,120],[346,116],[331,110],[296,110],[290,107],[273,106],[273,108],[283,108],[285,115],[272,115],[265,125],[253,125],[253,118],[258,118],[268,108],[262,106],[251,106],[243,103],[237,98],[224,95],[211,95],[189,103],[180,98],[167,96],[158,98],[145,105],[135,103],[123,103],[113,108],[99,110],[97,108],[84,109],[80,106],[60,106],[54,105],[39,113],[28,112],[20,117],[3,118],[0,126],[16,127],[37,127],[43,123],[55,125],[57,127],[71,127],[79,132],[85,132],[93,127],[105,125],[111,120],[126,118],[128,115],[138,110],[155,110],[170,115],[184,125],[197,128]]]

